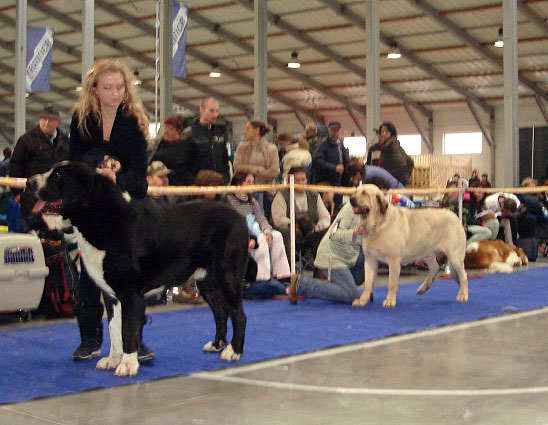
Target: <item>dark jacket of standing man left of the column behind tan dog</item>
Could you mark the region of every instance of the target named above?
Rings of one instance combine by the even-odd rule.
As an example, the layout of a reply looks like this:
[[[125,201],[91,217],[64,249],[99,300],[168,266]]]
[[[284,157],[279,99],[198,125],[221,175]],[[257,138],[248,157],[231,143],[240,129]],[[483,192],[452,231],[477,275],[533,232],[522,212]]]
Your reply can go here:
[[[312,155],[312,183],[328,181],[333,186],[340,186],[342,173],[337,173],[338,164],[346,166],[348,151],[341,142],[330,136],[314,148]]]

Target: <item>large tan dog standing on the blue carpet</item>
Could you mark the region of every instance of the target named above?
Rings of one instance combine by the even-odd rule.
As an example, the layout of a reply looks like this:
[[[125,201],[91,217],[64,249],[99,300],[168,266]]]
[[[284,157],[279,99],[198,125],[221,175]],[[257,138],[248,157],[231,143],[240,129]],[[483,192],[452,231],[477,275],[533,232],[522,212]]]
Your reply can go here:
[[[417,289],[424,294],[439,272],[436,255],[445,253],[453,278],[459,283],[457,301],[468,301],[468,277],[464,270],[466,235],[459,218],[449,210],[436,208],[408,209],[390,205],[375,185],[364,184],[350,198],[354,213],[360,215],[365,255],[364,291],[352,305],[364,306],[369,301],[377,264],[388,264],[388,294],[382,305],[394,307],[398,292],[401,264],[424,260],[428,276]]]

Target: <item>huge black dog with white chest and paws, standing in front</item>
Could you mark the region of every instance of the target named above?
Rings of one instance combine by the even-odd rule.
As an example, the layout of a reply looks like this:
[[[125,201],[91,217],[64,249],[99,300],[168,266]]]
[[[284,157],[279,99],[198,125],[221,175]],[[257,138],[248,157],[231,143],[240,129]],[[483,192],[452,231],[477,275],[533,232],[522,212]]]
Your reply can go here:
[[[205,344],[204,351],[223,350],[223,360],[240,359],[249,233],[235,210],[216,201],[159,208],[149,200],[131,200],[109,178],[75,162],[33,176],[27,188],[45,201],[41,204],[56,204],[58,214],[70,221],[89,275],[115,298],[110,353],[99,360],[98,369],[137,374],[144,294],[185,282],[196,270],[205,271],[198,288],[216,324],[215,341]],[[229,316],[234,332],[227,345]]]

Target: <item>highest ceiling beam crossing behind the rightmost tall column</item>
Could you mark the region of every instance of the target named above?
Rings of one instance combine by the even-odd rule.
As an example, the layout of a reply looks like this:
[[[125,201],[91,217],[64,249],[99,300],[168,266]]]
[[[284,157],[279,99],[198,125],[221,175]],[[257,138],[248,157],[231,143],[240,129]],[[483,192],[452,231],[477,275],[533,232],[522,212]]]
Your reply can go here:
[[[414,5],[415,7],[417,7],[419,10],[422,10],[424,13],[426,13],[436,22],[438,22],[439,24],[447,28],[449,31],[453,33],[453,35],[455,35],[461,41],[466,43],[471,49],[475,50],[476,52],[486,57],[492,64],[494,64],[500,69],[504,69],[502,57],[496,55],[487,47],[483,46],[483,44],[479,40],[471,36],[467,31],[465,31],[464,29],[459,27],[455,22],[453,22],[451,19],[443,15],[439,10],[437,10],[430,3],[428,3],[425,0],[407,0],[407,1],[411,3],[412,5]],[[542,89],[537,83],[535,83],[533,80],[529,79],[528,77],[526,77],[523,73],[519,71],[518,71],[518,80],[521,84],[529,88],[533,93],[538,94],[544,100],[548,101],[548,92]]]

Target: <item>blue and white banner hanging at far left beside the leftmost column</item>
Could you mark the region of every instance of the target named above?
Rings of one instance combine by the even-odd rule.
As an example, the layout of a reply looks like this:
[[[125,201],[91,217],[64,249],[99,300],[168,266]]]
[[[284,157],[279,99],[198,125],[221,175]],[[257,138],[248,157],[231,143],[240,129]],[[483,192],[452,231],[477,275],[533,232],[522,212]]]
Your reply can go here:
[[[27,27],[26,90],[49,92],[53,28]]]

